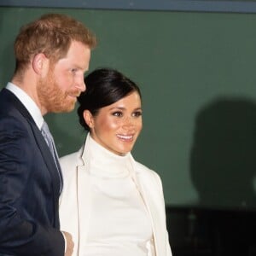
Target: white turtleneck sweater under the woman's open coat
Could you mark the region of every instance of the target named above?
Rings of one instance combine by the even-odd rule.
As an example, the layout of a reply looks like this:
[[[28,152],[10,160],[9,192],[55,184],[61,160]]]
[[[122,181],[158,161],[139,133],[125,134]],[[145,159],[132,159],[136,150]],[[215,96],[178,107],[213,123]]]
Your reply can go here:
[[[90,135],[85,150],[91,198],[89,226],[80,227],[88,229],[87,241],[79,241],[80,256],[154,255],[150,218],[131,175],[131,154],[113,154]]]

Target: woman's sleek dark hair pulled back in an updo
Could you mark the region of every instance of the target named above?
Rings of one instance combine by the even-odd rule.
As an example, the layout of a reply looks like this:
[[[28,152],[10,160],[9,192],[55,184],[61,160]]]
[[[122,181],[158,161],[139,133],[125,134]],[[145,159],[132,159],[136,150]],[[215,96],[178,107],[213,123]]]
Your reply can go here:
[[[84,110],[89,110],[93,116],[99,112],[100,108],[118,102],[125,96],[137,91],[142,98],[141,91],[137,84],[111,68],[99,68],[84,78],[86,90],[78,97],[79,101],[79,122],[86,131],[90,127],[84,121]]]

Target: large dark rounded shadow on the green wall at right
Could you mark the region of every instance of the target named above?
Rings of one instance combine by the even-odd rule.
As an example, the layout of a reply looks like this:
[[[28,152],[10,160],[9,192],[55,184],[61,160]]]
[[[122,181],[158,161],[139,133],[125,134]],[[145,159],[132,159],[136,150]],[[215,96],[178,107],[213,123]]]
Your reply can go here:
[[[190,155],[201,207],[256,208],[256,104],[218,99],[198,113]]]

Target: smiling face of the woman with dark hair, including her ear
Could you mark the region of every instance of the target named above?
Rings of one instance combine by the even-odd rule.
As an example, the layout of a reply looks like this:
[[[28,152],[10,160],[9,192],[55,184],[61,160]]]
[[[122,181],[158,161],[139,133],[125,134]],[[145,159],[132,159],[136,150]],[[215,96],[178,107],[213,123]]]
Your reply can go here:
[[[90,118],[86,118],[86,114]],[[118,102],[101,108],[95,117],[85,110],[84,119],[97,143],[114,154],[126,154],[133,148],[143,128],[141,98],[134,91]]]

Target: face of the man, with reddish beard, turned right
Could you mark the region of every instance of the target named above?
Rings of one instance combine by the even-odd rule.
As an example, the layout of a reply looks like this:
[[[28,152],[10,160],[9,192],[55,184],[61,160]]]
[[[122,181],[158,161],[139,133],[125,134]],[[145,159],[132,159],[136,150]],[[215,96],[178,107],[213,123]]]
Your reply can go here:
[[[49,72],[38,83],[38,98],[49,112],[70,112],[77,97],[85,90],[84,73],[89,68],[90,49],[73,41],[67,55],[49,67]]]

